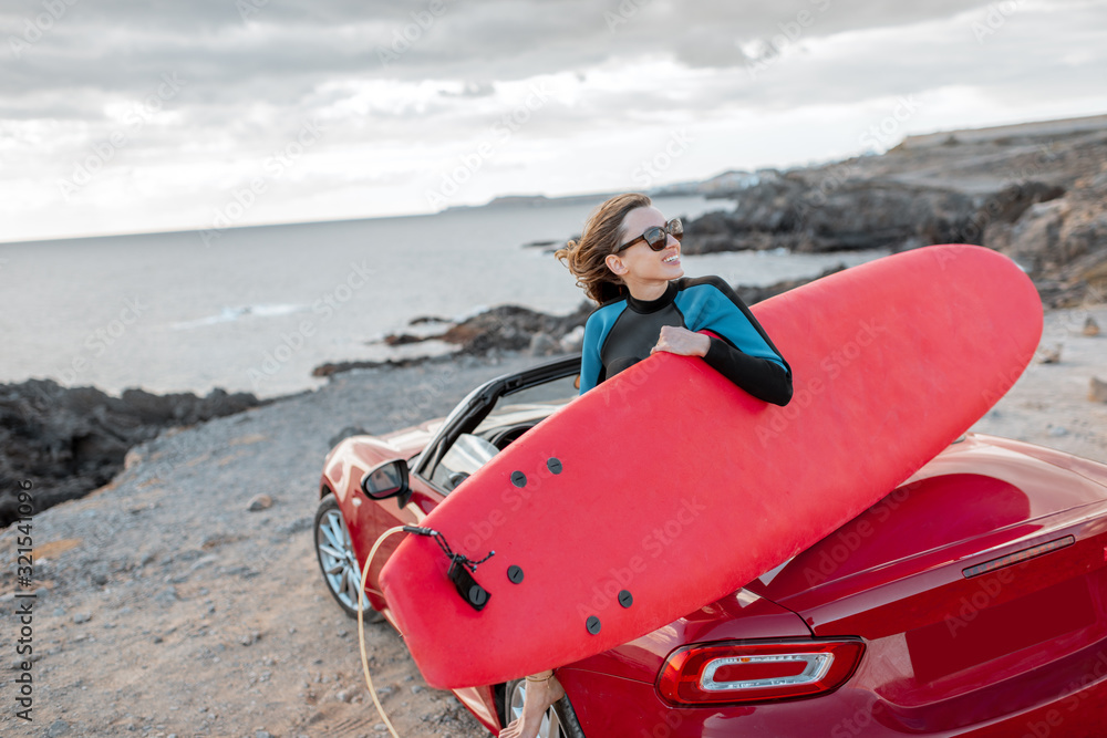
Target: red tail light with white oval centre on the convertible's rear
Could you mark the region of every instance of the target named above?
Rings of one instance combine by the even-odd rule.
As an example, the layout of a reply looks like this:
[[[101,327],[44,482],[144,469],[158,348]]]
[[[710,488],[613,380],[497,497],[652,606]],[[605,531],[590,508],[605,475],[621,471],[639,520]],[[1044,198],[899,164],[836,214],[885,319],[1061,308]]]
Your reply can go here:
[[[861,661],[860,641],[731,642],[684,646],[665,661],[658,692],[674,705],[813,697],[834,692]]]

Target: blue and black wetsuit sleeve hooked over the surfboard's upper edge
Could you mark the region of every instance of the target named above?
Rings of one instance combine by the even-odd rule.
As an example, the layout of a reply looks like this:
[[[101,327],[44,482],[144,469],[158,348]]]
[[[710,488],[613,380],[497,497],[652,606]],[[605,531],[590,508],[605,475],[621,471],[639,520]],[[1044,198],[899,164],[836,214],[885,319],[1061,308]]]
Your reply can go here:
[[[706,329],[722,336],[711,339],[703,357],[707,365],[757,399],[787,405],[792,399],[792,367],[749,308],[721,279],[696,289],[702,293],[697,295],[702,309],[692,330]]]

